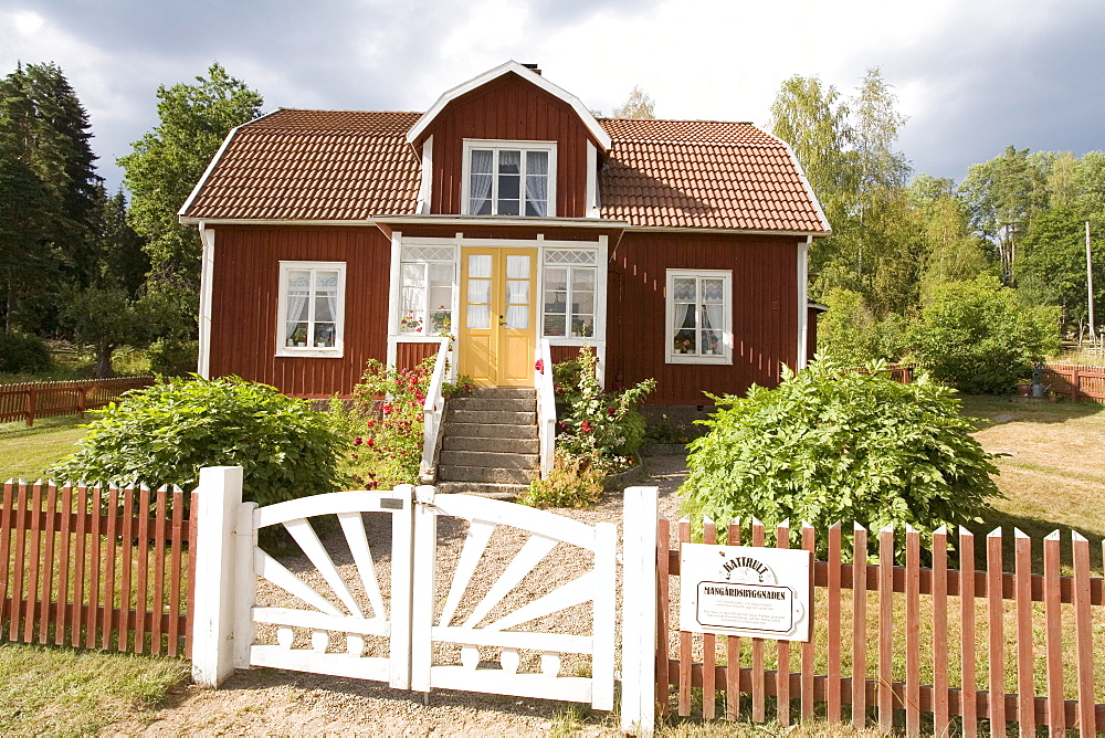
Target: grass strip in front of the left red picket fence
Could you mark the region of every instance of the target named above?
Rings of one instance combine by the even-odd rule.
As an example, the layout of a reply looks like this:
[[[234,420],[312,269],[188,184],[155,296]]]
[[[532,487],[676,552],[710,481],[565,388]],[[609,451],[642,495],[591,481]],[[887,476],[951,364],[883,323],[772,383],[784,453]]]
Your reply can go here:
[[[148,714],[188,677],[178,658],[0,645],[0,734],[85,735]]]

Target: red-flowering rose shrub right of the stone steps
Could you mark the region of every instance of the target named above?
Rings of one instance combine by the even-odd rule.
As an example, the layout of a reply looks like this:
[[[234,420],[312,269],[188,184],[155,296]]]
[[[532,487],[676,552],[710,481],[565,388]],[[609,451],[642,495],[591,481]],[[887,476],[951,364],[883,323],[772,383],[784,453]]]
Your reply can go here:
[[[557,399],[566,411],[559,419],[557,447],[568,456],[591,457],[600,471],[610,473],[632,463],[644,440],[644,417],[635,405],[656,387],[646,379],[636,387],[604,392],[596,373],[598,359],[582,348],[575,361],[552,368]]]

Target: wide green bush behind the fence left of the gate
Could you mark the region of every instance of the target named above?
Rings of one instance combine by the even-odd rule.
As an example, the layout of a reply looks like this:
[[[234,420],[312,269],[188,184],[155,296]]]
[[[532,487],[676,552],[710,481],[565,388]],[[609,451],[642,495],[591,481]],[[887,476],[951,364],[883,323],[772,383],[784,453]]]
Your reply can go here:
[[[242,466],[260,505],[333,492],[340,439],[306,400],[236,377],[173,379],[126,393],[101,411],[81,451],[50,470],[59,479],[192,488],[203,466]]]

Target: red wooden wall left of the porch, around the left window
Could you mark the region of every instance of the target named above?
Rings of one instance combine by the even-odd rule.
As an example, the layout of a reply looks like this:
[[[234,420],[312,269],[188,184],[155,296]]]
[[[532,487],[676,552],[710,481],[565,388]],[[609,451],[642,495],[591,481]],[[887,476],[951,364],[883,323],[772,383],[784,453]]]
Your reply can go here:
[[[340,359],[274,356],[281,261],[346,262]],[[390,242],[376,228],[218,226],[211,376],[238,375],[287,394],[348,394],[368,359],[387,359],[390,263]]]

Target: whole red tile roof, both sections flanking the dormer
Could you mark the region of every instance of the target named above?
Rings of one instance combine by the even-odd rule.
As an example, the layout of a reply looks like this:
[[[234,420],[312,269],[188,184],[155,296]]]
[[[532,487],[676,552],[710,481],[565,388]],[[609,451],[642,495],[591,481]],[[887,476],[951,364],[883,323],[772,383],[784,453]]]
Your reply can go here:
[[[225,146],[186,218],[367,220],[412,214],[419,113],[282,109]],[[612,147],[603,219],[631,225],[824,232],[779,139],[746,123],[600,120]]]

